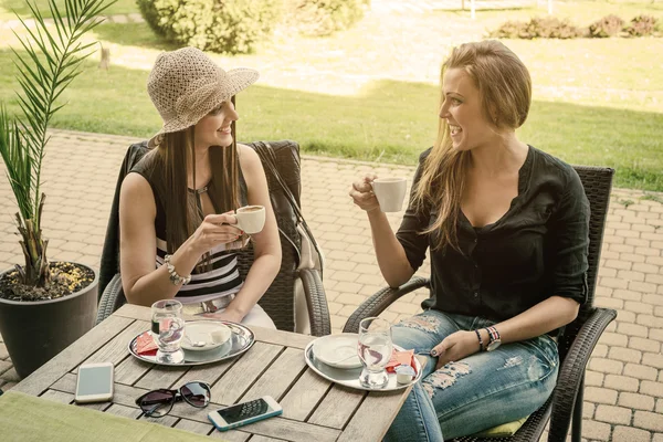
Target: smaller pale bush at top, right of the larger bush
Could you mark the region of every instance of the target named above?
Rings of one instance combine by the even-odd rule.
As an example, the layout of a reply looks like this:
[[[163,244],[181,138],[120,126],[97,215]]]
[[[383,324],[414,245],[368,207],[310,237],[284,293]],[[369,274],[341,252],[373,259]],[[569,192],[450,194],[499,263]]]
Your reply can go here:
[[[329,35],[361,20],[367,0],[284,0],[286,24],[305,35]]]

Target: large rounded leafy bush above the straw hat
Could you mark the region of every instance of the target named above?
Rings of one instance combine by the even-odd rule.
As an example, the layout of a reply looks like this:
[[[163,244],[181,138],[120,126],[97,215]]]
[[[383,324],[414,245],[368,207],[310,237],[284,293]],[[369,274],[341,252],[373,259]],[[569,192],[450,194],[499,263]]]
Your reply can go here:
[[[281,19],[282,0],[137,0],[155,32],[180,45],[250,53]]]

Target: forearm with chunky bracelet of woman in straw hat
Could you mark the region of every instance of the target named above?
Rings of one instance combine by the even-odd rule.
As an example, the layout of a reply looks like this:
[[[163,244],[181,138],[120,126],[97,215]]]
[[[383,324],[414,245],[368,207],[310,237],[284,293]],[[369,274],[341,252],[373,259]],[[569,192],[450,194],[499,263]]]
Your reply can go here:
[[[178,275],[186,277],[191,274],[201,255],[192,246],[191,239],[189,239],[172,254],[170,263],[175,265]],[[168,266],[164,264],[139,277],[133,284],[129,282],[129,286],[130,288],[126,293],[127,301],[131,304],[149,307],[159,299],[173,298],[182,284],[172,284]]]

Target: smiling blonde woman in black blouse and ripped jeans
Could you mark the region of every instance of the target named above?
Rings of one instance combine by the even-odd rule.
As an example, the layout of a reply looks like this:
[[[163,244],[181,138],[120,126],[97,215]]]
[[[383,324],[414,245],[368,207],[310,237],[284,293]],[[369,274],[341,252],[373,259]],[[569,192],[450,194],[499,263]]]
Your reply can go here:
[[[439,137],[398,233],[371,192],[375,176],[350,191],[390,286],[431,259],[424,312],[392,327],[393,341],[429,364],[389,441],[470,435],[536,411],[556,383],[557,330],[587,296],[580,179],[515,134],[532,103],[527,67],[497,41],[467,43],[442,80]]]

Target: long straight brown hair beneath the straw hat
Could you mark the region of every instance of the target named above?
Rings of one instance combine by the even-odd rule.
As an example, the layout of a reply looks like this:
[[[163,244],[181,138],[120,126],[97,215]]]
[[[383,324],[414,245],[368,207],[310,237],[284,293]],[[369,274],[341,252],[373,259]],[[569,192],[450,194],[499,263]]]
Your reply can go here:
[[[217,213],[239,208],[240,162],[234,122],[231,129],[231,146],[210,147],[212,178],[207,186]],[[193,182],[199,187],[196,180],[194,127],[165,134],[162,141],[152,152],[150,166],[154,176],[159,177],[164,183],[161,189],[164,194],[160,199],[166,215],[166,242],[168,253],[175,253],[193,234],[204,218],[202,208],[197,204],[198,196],[189,192],[187,182],[187,170],[191,166]]]

